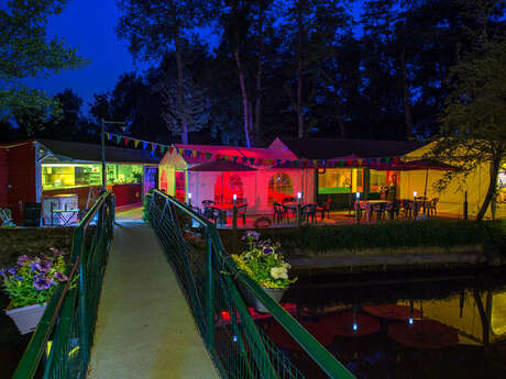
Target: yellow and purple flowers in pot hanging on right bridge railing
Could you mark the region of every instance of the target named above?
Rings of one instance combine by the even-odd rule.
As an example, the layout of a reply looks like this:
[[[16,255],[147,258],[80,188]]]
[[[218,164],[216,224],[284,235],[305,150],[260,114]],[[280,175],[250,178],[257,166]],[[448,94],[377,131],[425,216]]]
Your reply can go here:
[[[279,243],[272,243],[271,239],[260,239],[260,233],[248,231],[242,237],[246,242],[246,249],[240,255],[232,254],[231,257],[239,269],[256,281],[271,298],[279,302],[288,287],[297,280],[289,279],[287,264],[278,252]],[[268,312],[254,293],[241,286],[246,301],[258,312]]]

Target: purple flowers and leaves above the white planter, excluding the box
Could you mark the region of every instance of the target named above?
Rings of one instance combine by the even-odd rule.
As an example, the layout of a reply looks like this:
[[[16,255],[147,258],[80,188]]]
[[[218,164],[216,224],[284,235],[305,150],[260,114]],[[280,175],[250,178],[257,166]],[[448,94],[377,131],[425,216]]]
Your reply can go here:
[[[2,269],[3,289],[12,300],[12,308],[43,304],[56,286],[68,280],[63,252],[53,248],[53,256],[30,258],[23,255],[16,265]]]

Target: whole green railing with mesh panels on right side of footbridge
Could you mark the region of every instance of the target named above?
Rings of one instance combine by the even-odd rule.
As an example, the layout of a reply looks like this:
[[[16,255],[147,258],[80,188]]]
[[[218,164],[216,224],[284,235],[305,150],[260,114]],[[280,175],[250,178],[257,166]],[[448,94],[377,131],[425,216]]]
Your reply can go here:
[[[146,214],[222,378],[305,378],[254,322],[239,288],[251,290],[328,377],[354,378],[288,312],[237,268],[212,223],[160,191],[151,196]]]

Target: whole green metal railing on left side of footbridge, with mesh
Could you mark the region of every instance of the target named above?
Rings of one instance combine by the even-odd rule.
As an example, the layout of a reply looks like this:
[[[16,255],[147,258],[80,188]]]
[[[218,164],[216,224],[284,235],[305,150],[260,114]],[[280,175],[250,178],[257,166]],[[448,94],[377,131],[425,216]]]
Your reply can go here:
[[[76,227],[69,280],[48,301],[13,379],[86,378],[113,222],[107,192]]]

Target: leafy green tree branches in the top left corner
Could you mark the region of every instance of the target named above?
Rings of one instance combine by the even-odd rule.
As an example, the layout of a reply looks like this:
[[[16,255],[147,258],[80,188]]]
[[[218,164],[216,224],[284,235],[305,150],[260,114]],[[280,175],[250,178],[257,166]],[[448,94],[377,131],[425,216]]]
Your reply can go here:
[[[47,19],[59,14],[67,0],[11,0],[0,9],[0,118],[16,115],[31,133],[38,123],[61,114],[57,99],[22,83],[87,62],[62,38],[46,36]]]

